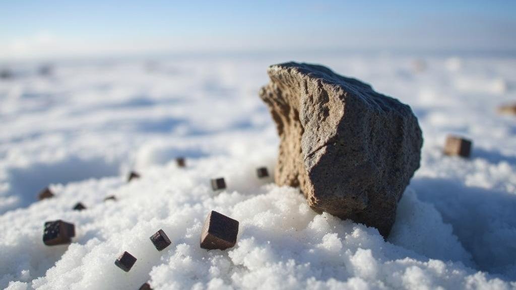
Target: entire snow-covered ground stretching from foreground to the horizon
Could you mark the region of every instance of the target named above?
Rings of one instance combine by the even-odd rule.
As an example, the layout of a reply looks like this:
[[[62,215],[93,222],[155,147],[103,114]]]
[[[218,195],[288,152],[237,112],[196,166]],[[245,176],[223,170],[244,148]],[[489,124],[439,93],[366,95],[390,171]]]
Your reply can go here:
[[[424,62],[416,61],[422,59]],[[268,65],[328,65],[412,106],[422,166],[393,232],[317,215],[294,188],[258,180],[278,139],[257,96]],[[423,66],[424,64],[424,66]],[[0,80],[0,288],[516,288],[516,58],[328,55],[184,56],[10,64]],[[5,66],[4,66],[5,67]],[[419,68],[420,70],[416,70]],[[421,70],[424,68],[423,70]],[[441,154],[472,138],[472,158]],[[186,156],[187,168],[173,159]],[[142,178],[126,183],[129,170]],[[214,194],[211,178],[228,189]],[[56,198],[36,201],[50,184]],[[118,201],[103,202],[107,195]],[[72,211],[78,201],[88,209]],[[237,246],[199,248],[211,210],[240,221]],[[46,220],[76,225],[46,247]],[[157,252],[149,236],[172,245]],[[114,265],[128,251],[125,273]]]

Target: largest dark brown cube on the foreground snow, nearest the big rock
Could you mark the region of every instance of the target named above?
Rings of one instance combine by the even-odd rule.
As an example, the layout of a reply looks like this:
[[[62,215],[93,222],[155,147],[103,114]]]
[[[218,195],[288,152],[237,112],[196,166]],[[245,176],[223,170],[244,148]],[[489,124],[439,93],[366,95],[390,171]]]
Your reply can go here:
[[[212,211],[204,221],[201,248],[208,250],[232,248],[236,244],[237,235],[237,220]]]

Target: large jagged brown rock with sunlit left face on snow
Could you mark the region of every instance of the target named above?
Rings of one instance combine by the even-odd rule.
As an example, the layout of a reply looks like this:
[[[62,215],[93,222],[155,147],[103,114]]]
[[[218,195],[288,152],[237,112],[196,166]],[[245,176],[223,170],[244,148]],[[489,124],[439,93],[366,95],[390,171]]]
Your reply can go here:
[[[420,166],[423,138],[409,106],[326,67],[268,69],[260,91],[280,136],[275,179],[309,205],[388,236],[396,205]]]

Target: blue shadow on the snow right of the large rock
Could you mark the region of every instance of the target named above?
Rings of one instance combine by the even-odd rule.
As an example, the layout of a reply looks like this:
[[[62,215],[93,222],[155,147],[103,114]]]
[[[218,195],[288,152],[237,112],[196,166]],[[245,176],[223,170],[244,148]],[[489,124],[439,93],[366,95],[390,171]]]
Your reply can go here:
[[[480,270],[516,279],[516,195],[438,178],[415,178],[411,187],[453,226]]]

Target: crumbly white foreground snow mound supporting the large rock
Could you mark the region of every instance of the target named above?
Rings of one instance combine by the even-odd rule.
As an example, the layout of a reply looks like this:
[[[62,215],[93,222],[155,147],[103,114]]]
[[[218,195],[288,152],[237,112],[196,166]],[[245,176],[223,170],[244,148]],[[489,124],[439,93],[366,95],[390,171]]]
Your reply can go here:
[[[414,192],[401,200],[393,234],[384,241],[376,229],[317,215],[297,189],[257,179],[256,164],[232,156],[189,162],[186,169],[173,162],[150,167],[128,184],[120,178],[71,184],[58,188],[55,199],[5,214],[3,285],[18,280],[12,289],[23,283],[123,289],[149,280],[155,289],[509,286],[465,266],[472,265],[471,256],[450,225]],[[208,181],[219,175],[228,189],[216,194]],[[103,202],[108,194],[118,201]],[[84,200],[88,209],[72,211],[73,199]],[[199,247],[212,210],[240,221],[236,247]],[[74,243],[45,247],[42,221],[58,218],[76,225]],[[159,229],[172,241],[162,252],[149,240]],[[128,273],[114,264],[123,251],[138,259]]]

